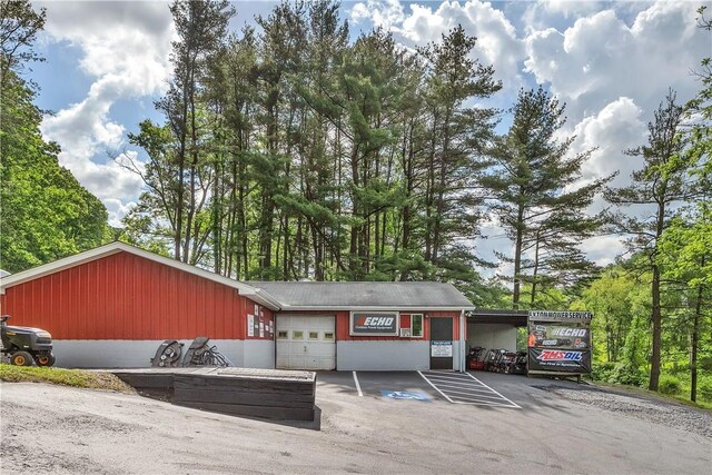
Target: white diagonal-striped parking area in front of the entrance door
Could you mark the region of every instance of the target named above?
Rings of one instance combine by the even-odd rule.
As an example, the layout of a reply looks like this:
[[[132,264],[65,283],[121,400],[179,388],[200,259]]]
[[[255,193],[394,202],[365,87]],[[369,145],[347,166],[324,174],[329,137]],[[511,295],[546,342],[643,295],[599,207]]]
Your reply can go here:
[[[472,404],[475,406],[521,407],[507,399],[469,373],[418,372],[418,374],[453,404]]]

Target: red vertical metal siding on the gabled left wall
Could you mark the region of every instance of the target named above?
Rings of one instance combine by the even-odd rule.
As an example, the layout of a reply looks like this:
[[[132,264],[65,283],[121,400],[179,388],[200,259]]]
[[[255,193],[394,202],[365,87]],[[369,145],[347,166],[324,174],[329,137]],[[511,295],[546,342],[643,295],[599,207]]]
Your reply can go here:
[[[12,324],[44,328],[56,339],[244,339],[245,316],[254,305],[237,289],[128,253],[0,296]],[[266,320],[273,318],[264,313]]]

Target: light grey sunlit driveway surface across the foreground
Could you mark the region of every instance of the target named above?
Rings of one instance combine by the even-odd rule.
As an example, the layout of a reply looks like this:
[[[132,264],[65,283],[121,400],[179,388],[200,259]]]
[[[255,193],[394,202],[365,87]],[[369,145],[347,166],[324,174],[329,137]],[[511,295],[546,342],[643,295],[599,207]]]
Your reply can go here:
[[[130,394],[4,383],[0,472],[700,474],[712,466],[709,435],[622,417],[603,410],[600,395],[566,387],[521,384],[513,395],[512,382],[487,384],[522,408],[359,397],[353,378],[320,378],[322,431]]]

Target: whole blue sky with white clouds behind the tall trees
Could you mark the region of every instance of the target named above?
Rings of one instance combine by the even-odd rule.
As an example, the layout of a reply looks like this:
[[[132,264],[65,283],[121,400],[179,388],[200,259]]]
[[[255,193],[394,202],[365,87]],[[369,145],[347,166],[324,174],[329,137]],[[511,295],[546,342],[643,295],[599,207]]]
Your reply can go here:
[[[118,167],[110,151],[127,147],[126,135],[140,120],[160,121],[154,100],[165,92],[174,37],[167,1],[51,1],[39,50],[47,61],[31,77],[47,139],[62,147],[69,168],[109,210],[118,225],[141,190],[140,180]],[[271,1],[235,2],[235,30],[267,14]],[[566,132],[576,150],[597,146],[586,178],[620,170],[624,184],[640,162],[621,151],[645,142],[645,125],[669,88],[681,100],[700,83],[692,70],[712,56],[712,36],[695,26],[703,1],[604,2],[345,1],[342,17],[352,34],[380,26],[407,47],[439,40],[457,24],[478,38],[476,56],[492,63],[504,85],[496,106],[512,106],[521,87],[545,85],[567,103]],[[130,150],[137,154],[139,150]],[[496,229],[482,243],[505,250]],[[500,236],[500,237],[498,237]],[[600,264],[621,251],[615,237],[584,244]]]

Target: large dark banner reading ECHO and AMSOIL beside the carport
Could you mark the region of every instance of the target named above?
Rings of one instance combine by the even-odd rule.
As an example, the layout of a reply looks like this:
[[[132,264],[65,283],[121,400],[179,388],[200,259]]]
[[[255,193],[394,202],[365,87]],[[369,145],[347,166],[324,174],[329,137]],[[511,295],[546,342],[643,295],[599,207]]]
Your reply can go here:
[[[530,311],[528,370],[591,373],[589,311]]]

